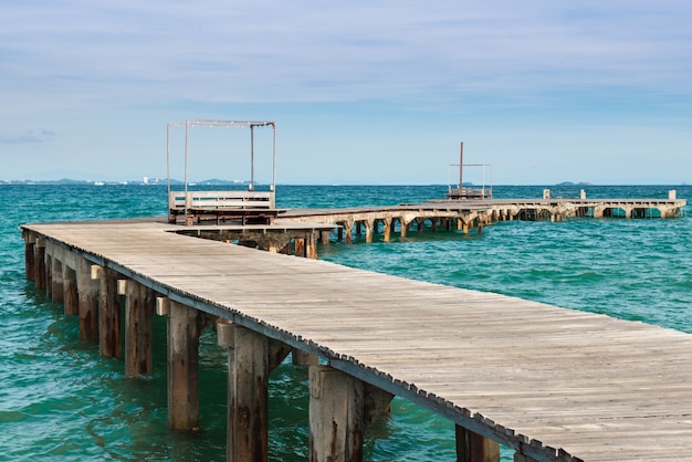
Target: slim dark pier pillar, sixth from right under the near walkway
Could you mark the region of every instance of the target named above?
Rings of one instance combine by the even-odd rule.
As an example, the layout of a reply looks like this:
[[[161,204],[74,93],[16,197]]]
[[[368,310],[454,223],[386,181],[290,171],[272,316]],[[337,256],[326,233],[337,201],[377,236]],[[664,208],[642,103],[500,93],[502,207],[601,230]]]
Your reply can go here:
[[[120,298],[117,294],[117,273],[108,267],[101,269],[98,292],[98,333],[101,355],[122,358],[120,346]]]

